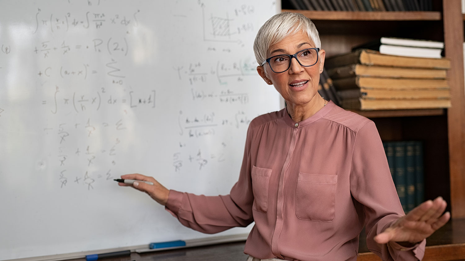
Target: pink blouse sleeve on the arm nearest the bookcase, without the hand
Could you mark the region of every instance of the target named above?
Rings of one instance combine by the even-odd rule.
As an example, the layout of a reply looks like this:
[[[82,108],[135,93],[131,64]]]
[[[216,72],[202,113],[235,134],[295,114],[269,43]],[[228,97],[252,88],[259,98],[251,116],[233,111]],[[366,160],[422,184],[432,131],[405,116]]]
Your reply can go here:
[[[350,189],[358,208],[363,210],[366,244],[382,260],[421,260],[426,240],[412,248],[389,242],[379,245],[374,236],[404,216],[378,131],[372,121],[357,133],[352,155]]]

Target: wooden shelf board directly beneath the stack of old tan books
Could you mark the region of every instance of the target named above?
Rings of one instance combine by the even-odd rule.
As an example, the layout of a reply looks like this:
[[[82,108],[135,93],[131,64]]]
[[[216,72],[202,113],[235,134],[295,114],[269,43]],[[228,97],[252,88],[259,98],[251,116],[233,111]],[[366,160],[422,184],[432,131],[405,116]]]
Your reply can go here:
[[[445,115],[445,109],[407,109],[407,110],[351,110],[367,118],[411,117],[411,116],[437,116]]]

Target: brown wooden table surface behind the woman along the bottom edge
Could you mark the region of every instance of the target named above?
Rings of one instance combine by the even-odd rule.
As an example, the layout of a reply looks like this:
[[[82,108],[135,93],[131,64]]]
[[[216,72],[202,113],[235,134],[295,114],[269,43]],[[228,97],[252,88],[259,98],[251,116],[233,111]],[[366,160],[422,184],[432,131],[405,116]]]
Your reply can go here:
[[[465,261],[465,219],[455,219],[436,231],[426,241],[423,261]],[[246,261],[245,242],[224,243],[205,247],[181,248],[131,256],[108,258],[105,261]],[[366,253],[368,252],[368,253]],[[366,248],[360,236],[360,256],[357,261],[381,260]],[[85,261],[85,258],[74,261]]]

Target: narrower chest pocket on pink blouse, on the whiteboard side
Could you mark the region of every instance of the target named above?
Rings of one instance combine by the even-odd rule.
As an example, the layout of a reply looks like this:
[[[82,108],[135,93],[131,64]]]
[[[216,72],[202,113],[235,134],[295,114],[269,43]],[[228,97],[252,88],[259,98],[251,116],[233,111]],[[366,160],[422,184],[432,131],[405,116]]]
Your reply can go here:
[[[263,213],[268,210],[268,186],[270,183],[271,169],[252,166],[252,209]]]

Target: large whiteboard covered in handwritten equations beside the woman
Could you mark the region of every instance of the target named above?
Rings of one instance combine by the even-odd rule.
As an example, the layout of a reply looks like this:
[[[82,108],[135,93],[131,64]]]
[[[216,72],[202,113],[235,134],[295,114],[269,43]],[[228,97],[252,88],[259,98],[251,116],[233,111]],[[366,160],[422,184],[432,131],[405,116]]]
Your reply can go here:
[[[248,123],[279,110],[252,51],[278,11],[272,0],[2,0],[0,260],[210,236],[113,178],[229,193]]]

